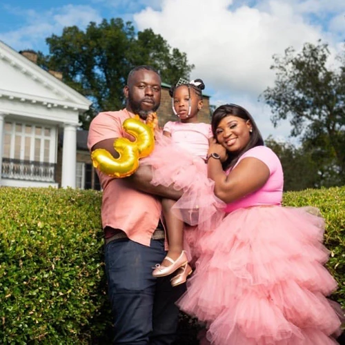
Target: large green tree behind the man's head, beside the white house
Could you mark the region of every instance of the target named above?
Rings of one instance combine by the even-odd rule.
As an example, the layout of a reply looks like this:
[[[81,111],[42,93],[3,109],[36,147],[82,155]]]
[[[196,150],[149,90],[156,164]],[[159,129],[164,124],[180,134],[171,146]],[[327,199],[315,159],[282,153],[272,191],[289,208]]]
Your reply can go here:
[[[122,90],[133,67],[151,65],[166,83],[188,79],[194,68],[186,53],[171,48],[161,35],[151,29],[136,32],[131,22],[119,18],[91,22],[86,30],[66,27],[61,36],[53,34],[46,41],[50,54],[39,54],[40,66],[62,72],[68,86],[93,101],[81,118],[85,129],[97,112],[124,106]]]

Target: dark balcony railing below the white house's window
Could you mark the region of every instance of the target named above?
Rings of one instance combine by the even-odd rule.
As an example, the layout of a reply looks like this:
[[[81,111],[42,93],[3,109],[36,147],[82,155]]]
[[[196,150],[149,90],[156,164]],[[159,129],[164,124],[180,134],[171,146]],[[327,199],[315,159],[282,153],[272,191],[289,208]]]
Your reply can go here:
[[[55,182],[55,166],[54,163],[3,158],[1,177],[23,181]]]

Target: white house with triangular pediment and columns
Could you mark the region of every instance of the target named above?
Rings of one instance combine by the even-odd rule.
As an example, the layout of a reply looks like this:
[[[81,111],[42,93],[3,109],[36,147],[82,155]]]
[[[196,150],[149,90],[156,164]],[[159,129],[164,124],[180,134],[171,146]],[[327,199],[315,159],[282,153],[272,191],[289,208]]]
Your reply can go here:
[[[57,187],[63,131],[61,187],[75,188],[78,117],[91,103],[0,41],[0,186]]]

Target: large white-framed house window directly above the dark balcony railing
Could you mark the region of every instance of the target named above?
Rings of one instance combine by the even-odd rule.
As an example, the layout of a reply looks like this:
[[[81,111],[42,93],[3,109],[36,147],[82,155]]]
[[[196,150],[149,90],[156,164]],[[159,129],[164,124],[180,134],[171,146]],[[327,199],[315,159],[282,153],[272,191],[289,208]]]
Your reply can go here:
[[[7,121],[3,136],[3,158],[55,163],[53,128]]]

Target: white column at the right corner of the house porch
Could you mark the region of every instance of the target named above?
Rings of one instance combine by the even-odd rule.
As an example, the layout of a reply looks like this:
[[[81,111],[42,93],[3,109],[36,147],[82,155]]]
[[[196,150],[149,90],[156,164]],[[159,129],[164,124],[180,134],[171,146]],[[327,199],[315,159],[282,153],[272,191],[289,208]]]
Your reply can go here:
[[[65,124],[63,128],[61,187],[75,188],[77,166],[77,125]]]

